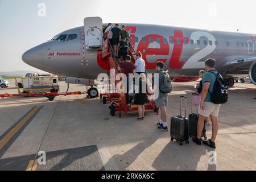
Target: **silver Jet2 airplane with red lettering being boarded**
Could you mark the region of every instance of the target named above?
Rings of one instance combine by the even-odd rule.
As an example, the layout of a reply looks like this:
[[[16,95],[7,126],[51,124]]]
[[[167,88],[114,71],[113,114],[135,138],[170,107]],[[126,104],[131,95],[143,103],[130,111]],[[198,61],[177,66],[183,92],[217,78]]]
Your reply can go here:
[[[125,24],[125,23],[119,23]],[[249,74],[256,85],[256,35],[240,32],[199,30],[154,24],[125,24],[130,42],[141,51],[148,73],[155,72],[156,61],[164,62],[173,81],[199,79],[204,61],[216,59],[216,69],[234,85],[234,78]],[[85,78],[88,85],[100,73],[108,73],[102,35],[108,27],[100,17],[87,17],[84,26],[63,31],[46,43],[22,55],[24,63],[43,71],[74,78]],[[88,90],[96,97],[97,88]]]

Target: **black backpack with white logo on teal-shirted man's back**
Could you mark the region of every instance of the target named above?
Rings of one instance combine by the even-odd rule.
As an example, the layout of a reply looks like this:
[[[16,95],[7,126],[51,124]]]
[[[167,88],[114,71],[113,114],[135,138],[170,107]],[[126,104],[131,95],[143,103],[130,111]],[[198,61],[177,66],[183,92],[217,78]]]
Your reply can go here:
[[[224,104],[228,102],[228,82],[222,78],[220,73],[217,73],[216,75],[210,71],[209,73],[212,73],[216,77],[213,92],[210,93],[210,101],[212,101],[214,104]]]

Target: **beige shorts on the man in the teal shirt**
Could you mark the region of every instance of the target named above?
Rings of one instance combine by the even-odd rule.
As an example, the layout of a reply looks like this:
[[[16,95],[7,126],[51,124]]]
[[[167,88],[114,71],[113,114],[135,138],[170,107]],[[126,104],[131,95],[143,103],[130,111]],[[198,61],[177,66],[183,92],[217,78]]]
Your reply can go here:
[[[218,111],[220,111],[220,104],[213,104],[212,102],[204,102],[204,110],[201,110],[200,106],[198,108],[198,114],[204,117],[218,117]]]

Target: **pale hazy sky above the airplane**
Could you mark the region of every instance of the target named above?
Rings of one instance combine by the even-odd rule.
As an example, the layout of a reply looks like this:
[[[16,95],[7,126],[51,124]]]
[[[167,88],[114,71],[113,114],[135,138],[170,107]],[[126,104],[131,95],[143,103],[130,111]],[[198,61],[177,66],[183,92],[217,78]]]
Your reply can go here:
[[[87,16],[104,23],[147,23],[256,34],[256,1],[230,0],[0,0],[0,72],[38,71],[22,54],[59,32],[83,25]]]

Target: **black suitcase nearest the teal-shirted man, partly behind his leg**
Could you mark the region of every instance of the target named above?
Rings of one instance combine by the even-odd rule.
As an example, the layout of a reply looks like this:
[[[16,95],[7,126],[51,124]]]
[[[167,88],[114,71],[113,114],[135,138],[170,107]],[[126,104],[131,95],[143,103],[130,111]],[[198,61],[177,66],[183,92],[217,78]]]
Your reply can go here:
[[[198,93],[192,93],[192,106],[191,106],[191,114],[188,115],[188,120],[189,120],[189,136],[196,137],[197,135],[197,122],[198,122],[198,108],[196,107],[196,114],[193,113],[193,95],[199,95]],[[198,106],[198,103],[197,103]],[[206,129],[205,129],[205,123],[206,120],[204,121],[204,128],[201,134],[201,137],[204,137],[204,139],[207,139],[206,137]]]

